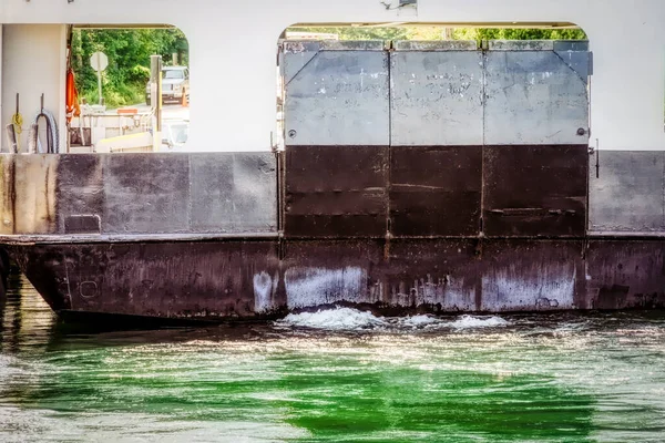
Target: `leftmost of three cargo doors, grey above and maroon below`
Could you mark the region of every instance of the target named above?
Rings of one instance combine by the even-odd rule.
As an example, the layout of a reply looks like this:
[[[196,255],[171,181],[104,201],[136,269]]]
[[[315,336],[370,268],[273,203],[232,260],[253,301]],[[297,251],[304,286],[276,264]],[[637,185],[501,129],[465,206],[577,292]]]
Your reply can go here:
[[[289,237],[387,230],[388,52],[382,41],[284,43]]]

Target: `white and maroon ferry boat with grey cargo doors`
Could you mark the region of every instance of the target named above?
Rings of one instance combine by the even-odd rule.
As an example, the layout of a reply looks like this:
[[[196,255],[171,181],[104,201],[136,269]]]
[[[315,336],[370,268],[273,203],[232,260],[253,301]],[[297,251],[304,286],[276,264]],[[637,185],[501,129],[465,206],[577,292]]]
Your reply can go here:
[[[186,152],[14,154],[2,137],[3,256],[59,315],[665,306],[663,1],[4,0],[2,127],[17,93],[66,127],[71,25],[151,23],[190,42]],[[278,44],[294,23],[589,41]]]

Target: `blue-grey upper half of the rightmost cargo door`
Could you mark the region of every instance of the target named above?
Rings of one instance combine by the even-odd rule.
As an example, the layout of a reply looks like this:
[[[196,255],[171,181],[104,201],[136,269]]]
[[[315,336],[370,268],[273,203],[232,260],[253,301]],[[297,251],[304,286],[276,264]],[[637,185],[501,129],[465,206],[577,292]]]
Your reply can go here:
[[[485,144],[587,143],[586,81],[555,52],[488,51],[485,84]]]

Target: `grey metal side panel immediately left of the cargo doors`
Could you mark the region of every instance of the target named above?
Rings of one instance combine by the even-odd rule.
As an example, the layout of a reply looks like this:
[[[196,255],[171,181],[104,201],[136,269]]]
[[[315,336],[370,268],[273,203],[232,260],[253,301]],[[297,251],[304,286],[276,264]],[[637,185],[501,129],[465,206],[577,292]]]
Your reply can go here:
[[[192,154],[191,230],[277,230],[277,162],[273,153]]]

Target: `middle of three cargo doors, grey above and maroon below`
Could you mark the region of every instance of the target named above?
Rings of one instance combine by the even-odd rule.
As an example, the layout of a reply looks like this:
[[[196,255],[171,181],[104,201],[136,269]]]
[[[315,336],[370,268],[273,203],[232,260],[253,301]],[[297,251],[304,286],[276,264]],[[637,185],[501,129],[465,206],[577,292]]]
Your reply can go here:
[[[393,43],[390,231],[396,237],[479,233],[482,61],[474,41]]]

